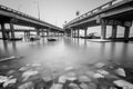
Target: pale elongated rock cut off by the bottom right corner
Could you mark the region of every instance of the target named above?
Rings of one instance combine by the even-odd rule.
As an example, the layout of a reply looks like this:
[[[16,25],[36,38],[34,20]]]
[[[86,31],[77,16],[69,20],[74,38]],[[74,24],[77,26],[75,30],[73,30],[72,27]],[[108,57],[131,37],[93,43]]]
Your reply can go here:
[[[117,87],[133,89],[133,85],[125,80],[115,80],[113,83],[115,83]]]

